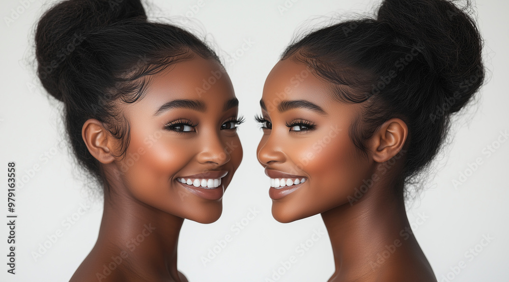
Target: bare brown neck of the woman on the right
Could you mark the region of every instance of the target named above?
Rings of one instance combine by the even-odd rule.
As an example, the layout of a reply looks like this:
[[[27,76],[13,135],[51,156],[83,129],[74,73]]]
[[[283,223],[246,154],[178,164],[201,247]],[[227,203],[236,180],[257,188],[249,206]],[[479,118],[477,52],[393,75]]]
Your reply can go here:
[[[334,255],[335,272],[329,281],[369,281],[397,266],[406,251],[420,250],[404,199],[389,188],[375,183],[353,205],[322,213]]]

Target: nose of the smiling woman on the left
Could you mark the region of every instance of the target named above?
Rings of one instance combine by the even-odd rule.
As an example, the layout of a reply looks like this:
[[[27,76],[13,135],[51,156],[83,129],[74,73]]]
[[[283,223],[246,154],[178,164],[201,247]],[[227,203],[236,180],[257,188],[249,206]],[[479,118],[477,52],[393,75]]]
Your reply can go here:
[[[230,153],[226,150],[227,145],[224,144],[221,137],[215,134],[204,134],[202,136],[202,150],[197,155],[200,163],[215,163],[220,166],[230,161]]]

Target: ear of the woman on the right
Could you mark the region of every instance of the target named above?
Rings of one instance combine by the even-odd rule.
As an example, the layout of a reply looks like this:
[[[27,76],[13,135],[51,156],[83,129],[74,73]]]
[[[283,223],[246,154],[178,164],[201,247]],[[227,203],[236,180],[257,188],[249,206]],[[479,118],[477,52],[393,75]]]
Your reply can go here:
[[[372,140],[373,160],[385,162],[398,154],[408,136],[407,124],[398,118],[390,119],[375,132]]]

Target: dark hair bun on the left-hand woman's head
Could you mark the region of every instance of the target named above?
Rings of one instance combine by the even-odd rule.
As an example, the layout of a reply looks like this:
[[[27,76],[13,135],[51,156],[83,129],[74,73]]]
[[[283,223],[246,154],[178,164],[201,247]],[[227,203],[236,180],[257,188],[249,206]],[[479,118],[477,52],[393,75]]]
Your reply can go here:
[[[140,0],[68,0],[46,11],[36,27],[37,73],[51,96],[63,101],[59,78],[87,33],[129,18],[146,20]]]

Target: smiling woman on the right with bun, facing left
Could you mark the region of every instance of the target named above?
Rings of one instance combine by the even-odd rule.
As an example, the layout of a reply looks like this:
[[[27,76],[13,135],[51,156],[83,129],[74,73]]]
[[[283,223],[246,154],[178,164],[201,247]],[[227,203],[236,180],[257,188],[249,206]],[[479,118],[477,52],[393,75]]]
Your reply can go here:
[[[450,115],[484,79],[467,8],[386,0],[376,19],[305,35],[269,73],[256,120],[272,215],[322,215],[335,264],[329,281],[436,281],[405,199]]]

